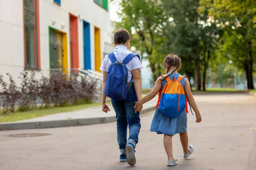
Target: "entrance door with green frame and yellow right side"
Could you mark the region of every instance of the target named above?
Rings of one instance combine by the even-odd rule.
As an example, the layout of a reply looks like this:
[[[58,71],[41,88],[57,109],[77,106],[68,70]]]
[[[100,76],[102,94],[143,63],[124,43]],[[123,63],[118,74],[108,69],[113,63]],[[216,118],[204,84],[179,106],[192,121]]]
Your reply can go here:
[[[63,57],[62,34],[50,29],[50,68],[62,70]]]

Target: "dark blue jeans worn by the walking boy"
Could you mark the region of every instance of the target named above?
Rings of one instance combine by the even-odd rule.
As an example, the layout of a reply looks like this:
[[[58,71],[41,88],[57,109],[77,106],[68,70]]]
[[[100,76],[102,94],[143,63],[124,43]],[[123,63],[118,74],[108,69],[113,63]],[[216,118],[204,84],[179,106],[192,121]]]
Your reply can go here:
[[[129,140],[133,139],[136,143],[138,143],[138,136],[141,124],[139,112],[135,112],[134,109],[136,101],[137,96],[133,85],[131,85],[129,90],[127,91],[126,100],[111,100],[117,118],[117,142],[120,149],[124,149],[126,147],[128,125]]]

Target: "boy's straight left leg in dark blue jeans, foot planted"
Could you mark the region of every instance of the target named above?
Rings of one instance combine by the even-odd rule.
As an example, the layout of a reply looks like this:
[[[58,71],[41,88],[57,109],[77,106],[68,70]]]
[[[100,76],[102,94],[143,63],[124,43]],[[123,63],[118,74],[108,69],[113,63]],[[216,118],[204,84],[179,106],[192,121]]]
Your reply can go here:
[[[124,102],[111,100],[111,103],[117,118],[117,142],[120,148],[120,154],[126,155],[127,119]]]

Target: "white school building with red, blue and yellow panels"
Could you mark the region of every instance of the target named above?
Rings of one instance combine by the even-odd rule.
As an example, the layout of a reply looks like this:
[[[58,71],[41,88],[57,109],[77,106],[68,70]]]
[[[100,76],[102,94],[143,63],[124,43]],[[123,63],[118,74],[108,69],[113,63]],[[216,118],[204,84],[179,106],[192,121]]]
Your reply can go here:
[[[0,0],[0,74],[98,71],[114,49],[110,0]]]

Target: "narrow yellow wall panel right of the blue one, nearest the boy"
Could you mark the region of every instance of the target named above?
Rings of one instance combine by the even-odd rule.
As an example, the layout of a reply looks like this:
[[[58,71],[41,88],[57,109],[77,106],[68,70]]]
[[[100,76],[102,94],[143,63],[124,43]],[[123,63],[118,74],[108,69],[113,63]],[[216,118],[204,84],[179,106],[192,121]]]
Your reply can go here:
[[[95,38],[95,70],[101,72],[99,70],[101,61],[101,52],[100,52],[100,29],[94,27],[94,38]]]

